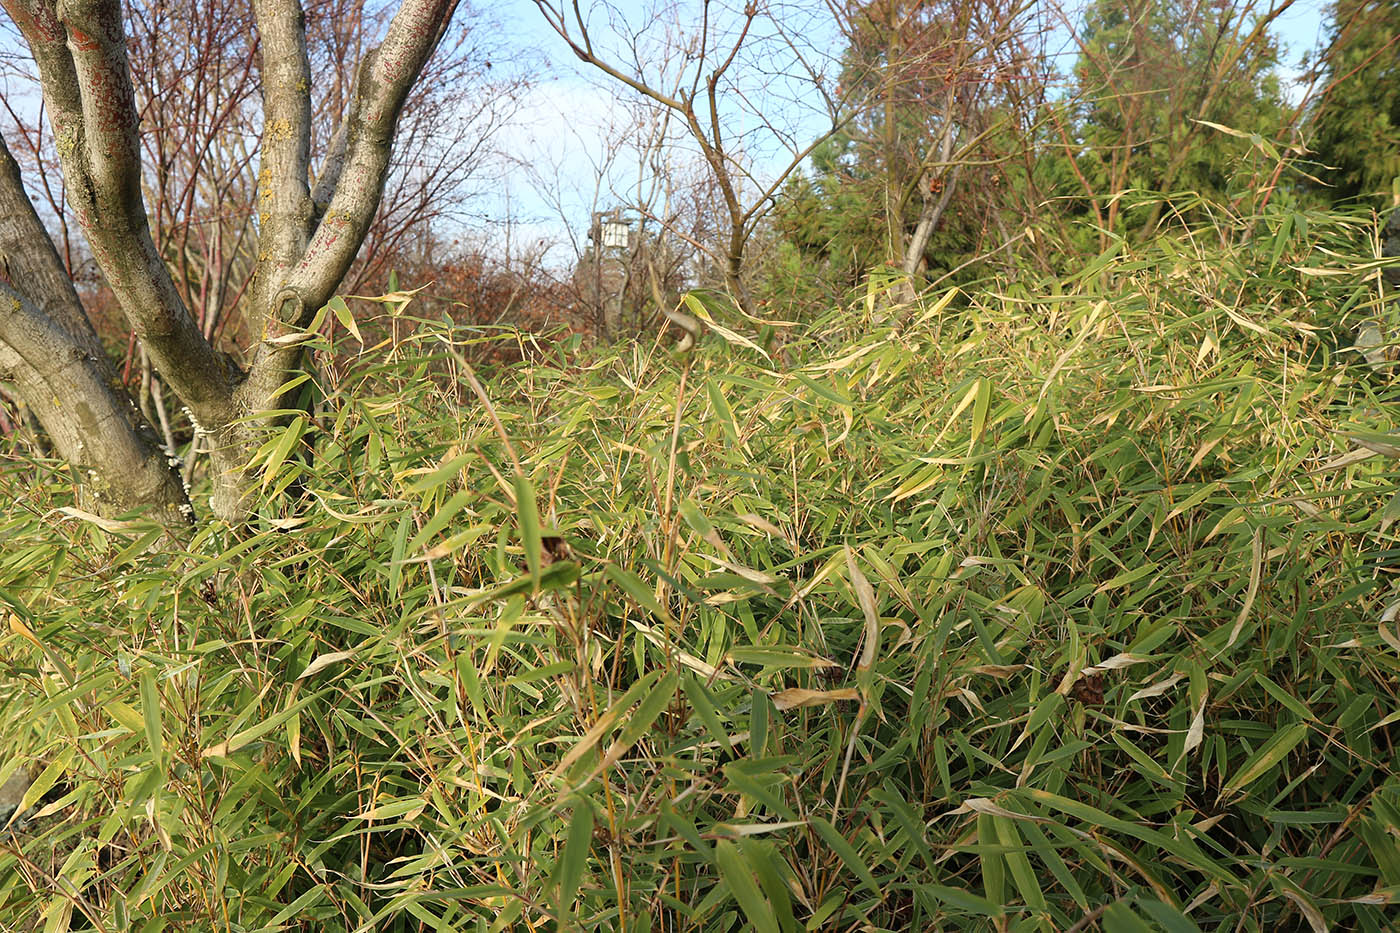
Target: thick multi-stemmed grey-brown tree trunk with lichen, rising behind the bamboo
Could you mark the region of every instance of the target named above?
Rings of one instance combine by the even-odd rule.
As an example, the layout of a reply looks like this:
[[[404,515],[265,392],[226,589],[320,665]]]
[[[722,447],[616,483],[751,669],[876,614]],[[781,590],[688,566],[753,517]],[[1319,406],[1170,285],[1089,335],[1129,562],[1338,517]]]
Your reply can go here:
[[[403,101],[458,0],[403,0],[384,42],[360,62],[354,98],[314,185],[305,14],[300,0],[255,0],[260,242],[245,314],[259,339],[245,367],[200,333],[151,238],[120,0],[0,3],[38,64],[69,205],[151,363],[210,440],[214,513],[239,521],[253,504],[248,461],[281,422],[279,391],[302,363],[305,328],[364,241]],[[34,409],[101,511],[147,506],[167,524],[189,521],[176,464],[104,356],[8,151],[0,154],[0,254],[8,265],[0,275],[0,380]]]

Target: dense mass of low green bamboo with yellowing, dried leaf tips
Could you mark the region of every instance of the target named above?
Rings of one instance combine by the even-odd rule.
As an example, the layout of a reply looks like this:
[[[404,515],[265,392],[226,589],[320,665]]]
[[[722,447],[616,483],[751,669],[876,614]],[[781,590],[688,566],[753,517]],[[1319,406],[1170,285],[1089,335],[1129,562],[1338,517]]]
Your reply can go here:
[[[490,406],[420,321],[178,546],[11,458],[0,918],[1387,929],[1394,394],[1302,220]]]

